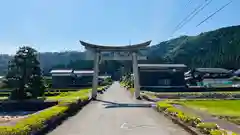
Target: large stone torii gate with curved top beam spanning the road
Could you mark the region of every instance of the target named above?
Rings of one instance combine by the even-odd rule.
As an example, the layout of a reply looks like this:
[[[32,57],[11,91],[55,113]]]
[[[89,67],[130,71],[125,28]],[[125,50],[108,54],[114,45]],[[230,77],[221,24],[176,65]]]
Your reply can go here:
[[[140,86],[139,86],[139,75],[138,75],[138,60],[139,59],[146,59],[138,57],[138,52],[140,49],[146,48],[148,45],[150,45],[151,41],[147,41],[140,44],[134,44],[134,45],[126,45],[126,46],[103,46],[103,45],[96,45],[96,44],[90,44],[86,43],[84,41],[80,41],[80,43],[85,47],[87,51],[91,52],[92,59],[94,60],[94,75],[93,75],[93,84],[92,84],[92,98],[97,97],[97,88],[98,88],[98,72],[99,72],[99,61],[101,57],[102,52],[128,52],[130,53],[130,59],[129,57],[122,57],[114,58],[113,56],[107,58],[106,60],[132,60],[133,61],[133,74],[134,74],[134,89],[135,89],[135,97],[137,99],[140,98]],[[104,60],[104,58],[101,58]]]

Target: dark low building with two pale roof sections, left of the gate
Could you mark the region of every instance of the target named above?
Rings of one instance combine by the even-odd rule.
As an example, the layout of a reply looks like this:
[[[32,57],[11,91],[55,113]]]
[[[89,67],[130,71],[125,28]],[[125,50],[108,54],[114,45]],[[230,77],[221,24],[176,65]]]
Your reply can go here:
[[[53,88],[78,88],[92,85],[93,73],[91,70],[52,70]]]

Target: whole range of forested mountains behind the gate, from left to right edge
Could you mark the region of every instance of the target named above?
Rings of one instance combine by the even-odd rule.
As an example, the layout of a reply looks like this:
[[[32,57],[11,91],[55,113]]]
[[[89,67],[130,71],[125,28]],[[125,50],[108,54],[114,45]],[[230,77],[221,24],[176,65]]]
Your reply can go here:
[[[240,26],[231,26],[204,32],[197,36],[181,36],[151,46],[142,53],[148,56],[144,63],[184,63],[189,67],[240,68]],[[0,74],[7,71],[9,55],[0,55]],[[91,69],[92,61],[85,61],[85,52],[40,53],[45,73],[52,68]],[[141,62],[142,63],[142,62]],[[104,61],[101,72],[114,73],[120,67],[130,70],[131,62]]]

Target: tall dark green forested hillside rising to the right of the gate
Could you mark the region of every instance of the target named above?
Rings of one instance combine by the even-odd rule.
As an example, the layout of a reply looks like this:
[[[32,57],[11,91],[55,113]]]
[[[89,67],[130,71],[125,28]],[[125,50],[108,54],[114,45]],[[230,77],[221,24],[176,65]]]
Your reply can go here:
[[[240,68],[240,26],[162,42],[149,49],[149,55],[152,54],[189,67],[237,69]]]

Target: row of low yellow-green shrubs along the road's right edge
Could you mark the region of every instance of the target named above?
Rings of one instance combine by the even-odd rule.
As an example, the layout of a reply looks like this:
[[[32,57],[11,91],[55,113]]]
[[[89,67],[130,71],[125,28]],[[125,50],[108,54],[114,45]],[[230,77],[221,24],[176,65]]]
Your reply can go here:
[[[157,103],[157,109],[164,112],[179,121],[185,123],[187,126],[192,126],[200,130],[200,132],[208,135],[237,135],[236,133],[230,133],[230,131],[220,129],[216,123],[204,123],[201,118],[193,114],[183,112],[175,108],[171,102],[161,101]]]

